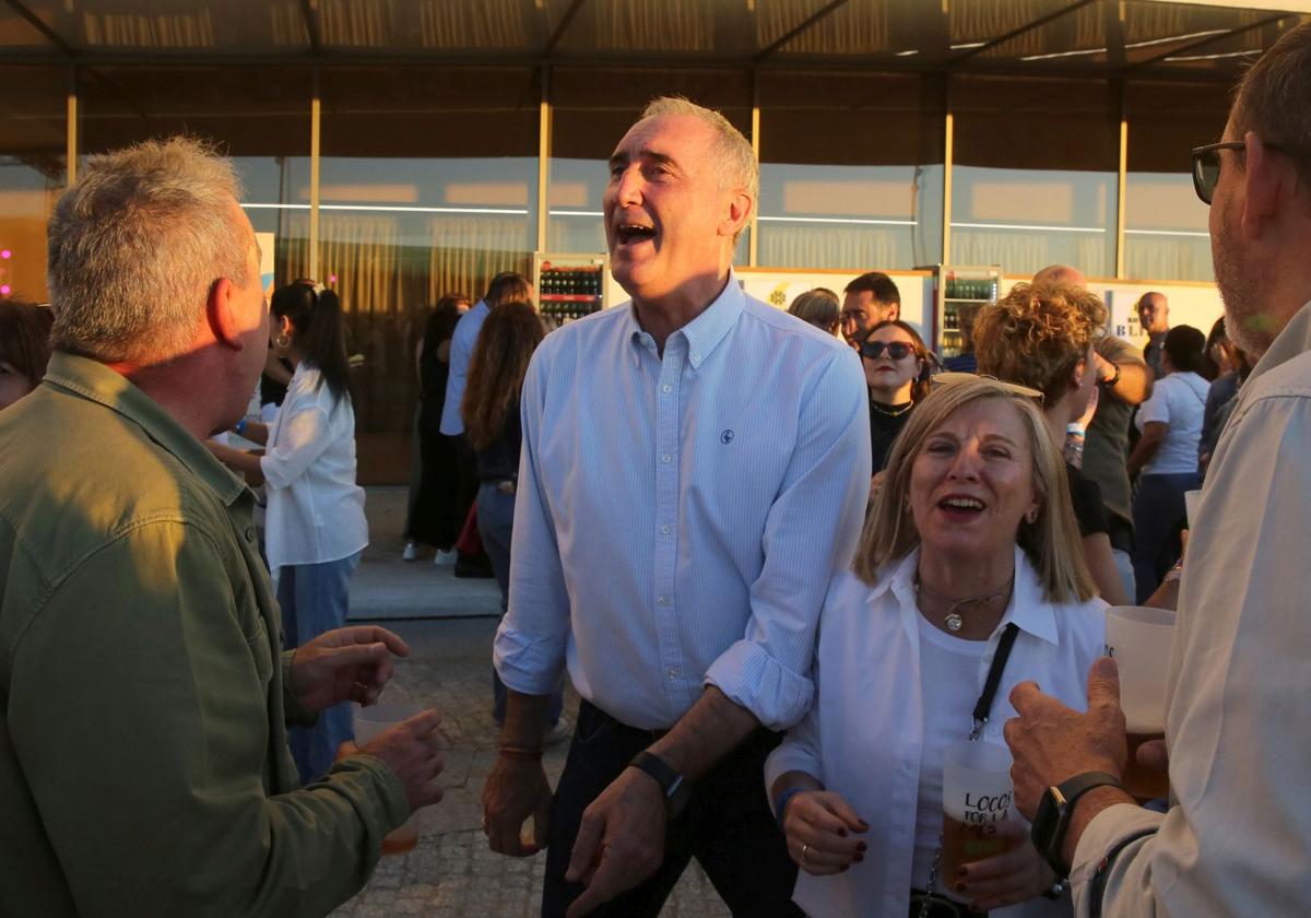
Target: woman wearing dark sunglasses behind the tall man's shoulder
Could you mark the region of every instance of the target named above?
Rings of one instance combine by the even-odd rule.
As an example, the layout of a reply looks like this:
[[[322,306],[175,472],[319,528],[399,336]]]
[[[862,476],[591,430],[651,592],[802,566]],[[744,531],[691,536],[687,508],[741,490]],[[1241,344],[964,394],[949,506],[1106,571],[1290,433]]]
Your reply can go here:
[[[865,336],[860,362],[869,386],[869,446],[877,475],[915,403],[928,395],[928,349],[912,325],[890,319]]]

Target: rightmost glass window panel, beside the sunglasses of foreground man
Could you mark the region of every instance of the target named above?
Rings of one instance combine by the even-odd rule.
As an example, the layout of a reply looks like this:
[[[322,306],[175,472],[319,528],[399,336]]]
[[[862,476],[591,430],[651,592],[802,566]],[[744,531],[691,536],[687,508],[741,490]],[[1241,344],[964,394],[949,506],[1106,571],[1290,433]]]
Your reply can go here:
[[[1227,83],[1130,83],[1125,275],[1211,281],[1209,211],[1193,191],[1189,151],[1221,139]]]

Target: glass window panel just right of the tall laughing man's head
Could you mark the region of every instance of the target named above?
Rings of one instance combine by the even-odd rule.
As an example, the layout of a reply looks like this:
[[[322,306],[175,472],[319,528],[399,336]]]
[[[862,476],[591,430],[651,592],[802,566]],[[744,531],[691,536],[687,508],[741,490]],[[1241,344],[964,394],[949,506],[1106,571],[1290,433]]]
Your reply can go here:
[[[758,79],[758,264],[863,271],[941,258],[937,77],[763,72]]]

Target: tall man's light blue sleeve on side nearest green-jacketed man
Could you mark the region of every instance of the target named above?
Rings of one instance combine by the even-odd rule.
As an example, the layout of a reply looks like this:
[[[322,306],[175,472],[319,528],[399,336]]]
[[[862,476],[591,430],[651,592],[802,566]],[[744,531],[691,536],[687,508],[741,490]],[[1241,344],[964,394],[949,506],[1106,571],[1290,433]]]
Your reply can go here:
[[[523,449],[514,498],[510,603],[493,644],[501,681],[526,695],[547,695],[560,686],[569,641],[569,594],[538,464],[547,382],[548,361],[539,350],[528,366],[520,403]]]

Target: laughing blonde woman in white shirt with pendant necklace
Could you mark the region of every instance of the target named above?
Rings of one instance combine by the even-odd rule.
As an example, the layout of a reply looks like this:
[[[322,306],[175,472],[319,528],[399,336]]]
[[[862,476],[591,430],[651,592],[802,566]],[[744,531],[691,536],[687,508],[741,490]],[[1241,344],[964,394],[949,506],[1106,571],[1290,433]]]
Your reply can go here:
[[[1004,749],[1011,688],[1033,679],[1084,709],[1105,639],[1063,462],[1029,396],[974,378],[924,399],[852,570],[829,588],[810,712],[766,766],[809,915],[1070,914],[1067,896],[1041,897],[1057,877],[1019,822],[1004,829],[1019,847],[927,889],[943,753],[970,738],[994,657],[1006,662],[977,741]]]

